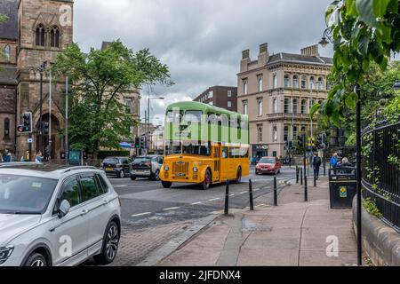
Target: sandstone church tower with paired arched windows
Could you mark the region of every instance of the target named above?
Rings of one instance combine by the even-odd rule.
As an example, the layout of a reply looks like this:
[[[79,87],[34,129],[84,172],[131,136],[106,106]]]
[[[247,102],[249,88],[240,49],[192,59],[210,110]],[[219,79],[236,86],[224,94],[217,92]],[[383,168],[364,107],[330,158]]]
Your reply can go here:
[[[61,153],[64,152],[64,139],[59,132],[65,123],[63,111],[65,78],[62,75],[53,75],[50,106],[49,67],[57,54],[72,43],[73,5],[72,0],[20,0],[18,6],[17,120],[20,120],[24,112],[32,112],[33,127],[36,127],[40,120],[51,125],[50,130],[44,131],[42,139],[39,137],[39,130],[32,135],[33,156],[42,149],[45,157],[50,155],[52,159],[60,160]],[[40,111],[41,67],[42,69],[45,67],[42,112]],[[54,78],[57,78],[57,81]],[[26,151],[28,151],[28,135],[19,133],[17,134],[18,157]]]

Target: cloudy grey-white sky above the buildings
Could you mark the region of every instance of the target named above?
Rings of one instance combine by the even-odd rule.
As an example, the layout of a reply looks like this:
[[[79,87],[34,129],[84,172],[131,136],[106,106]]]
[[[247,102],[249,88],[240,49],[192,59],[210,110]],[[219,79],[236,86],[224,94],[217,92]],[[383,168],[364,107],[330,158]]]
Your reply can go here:
[[[191,100],[214,85],[236,86],[242,51],[256,59],[260,43],[270,54],[300,53],[324,33],[332,0],[81,0],[74,6],[74,41],[84,51],[120,39],[133,51],[149,48],[170,68],[173,86],[141,90],[141,116],[151,101],[151,122],[165,106]],[[322,56],[332,56],[332,46]]]

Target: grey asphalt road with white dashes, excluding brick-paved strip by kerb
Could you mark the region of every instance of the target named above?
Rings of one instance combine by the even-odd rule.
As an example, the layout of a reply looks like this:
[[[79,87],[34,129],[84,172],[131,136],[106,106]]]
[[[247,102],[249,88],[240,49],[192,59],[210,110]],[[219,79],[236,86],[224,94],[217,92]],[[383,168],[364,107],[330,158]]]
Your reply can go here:
[[[278,181],[293,177],[294,169],[287,167],[277,175]],[[243,209],[248,206],[249,178],[252,179],[254,198],[272,191],[274,176],[256,176],[252,168],[250,177],[244,177],[240,185],[229,186],[229,208]],[[225,185],[213,185],[207,191],[197,185],[180,184],[165,189],[160,182],[146,178],[135,181],[129,177],[109,179],[120,195],[123,225],[128,225],[132,230],[206,217],[224,209]]]

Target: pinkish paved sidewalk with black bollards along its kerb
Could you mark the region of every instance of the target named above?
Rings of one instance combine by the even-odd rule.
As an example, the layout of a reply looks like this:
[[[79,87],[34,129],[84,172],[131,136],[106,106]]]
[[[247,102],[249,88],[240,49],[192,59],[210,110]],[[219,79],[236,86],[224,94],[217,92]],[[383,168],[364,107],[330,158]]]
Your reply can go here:
[[[267,199],[261,196],[259,201]],[[330,209],[327,178],[284,187],[278,207],[236,210],[220,216],[159,265],[340,266],[356,263],[351,209]],[[339,255],[327,256],[338,240]],[[328,238],[328,239],[327,239]],[[328,241],[328,242],[327,242]],[[329,249],[329,251],[333,251]]]

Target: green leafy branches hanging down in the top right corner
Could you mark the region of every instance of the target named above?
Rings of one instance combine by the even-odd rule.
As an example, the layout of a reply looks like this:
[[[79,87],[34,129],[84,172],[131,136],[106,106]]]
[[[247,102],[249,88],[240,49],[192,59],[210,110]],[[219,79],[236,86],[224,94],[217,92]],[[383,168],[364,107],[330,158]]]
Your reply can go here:
[[[362,100],[371,96],[366,83],[372,62],[384,71],[392,52],[400,50],[399,1],[336,0],[328,6],[325,20],[332,32],[332,76],[336,84],[325,102],[313,107],[311,115],[320,111],[326,123],[339,125],[348,109],[356,107],[357,83],[362,88]]]

